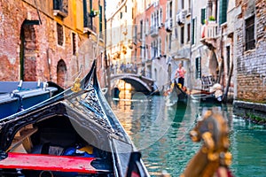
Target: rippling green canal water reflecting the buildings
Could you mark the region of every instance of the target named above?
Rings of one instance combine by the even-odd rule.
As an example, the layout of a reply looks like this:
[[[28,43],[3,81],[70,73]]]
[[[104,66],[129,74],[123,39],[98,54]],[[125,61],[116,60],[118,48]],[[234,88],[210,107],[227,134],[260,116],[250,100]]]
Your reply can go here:
[[[131,97],[131,99],[129,99]],[[151,176],[162,172],[179,176],[200,142],[192,142],[189,132],[209,109],[223,114],[230,127],[231,172],[234,176],[266,176],[266,127],[233,115],[231,104],[188,104],[167,106],[163,96],[136,93],[113,100],[111,107],[128,132]]]

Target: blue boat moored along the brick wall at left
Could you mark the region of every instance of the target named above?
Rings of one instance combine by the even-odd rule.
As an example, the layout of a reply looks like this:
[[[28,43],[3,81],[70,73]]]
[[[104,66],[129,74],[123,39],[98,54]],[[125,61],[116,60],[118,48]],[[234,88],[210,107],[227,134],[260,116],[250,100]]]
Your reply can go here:
[[[52,82],[0,81],[0,119],[39,104],[61,90]]]

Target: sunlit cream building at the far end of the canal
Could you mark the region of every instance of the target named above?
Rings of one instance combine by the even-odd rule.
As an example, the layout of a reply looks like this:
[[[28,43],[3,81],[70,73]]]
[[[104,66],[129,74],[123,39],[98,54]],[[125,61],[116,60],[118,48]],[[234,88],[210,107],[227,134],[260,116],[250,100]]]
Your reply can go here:
[[[106,19],[106,51],[115,72],[121,72],[121,65],[131,63],[133,8],[132,1],[119,1],[115,11]]]

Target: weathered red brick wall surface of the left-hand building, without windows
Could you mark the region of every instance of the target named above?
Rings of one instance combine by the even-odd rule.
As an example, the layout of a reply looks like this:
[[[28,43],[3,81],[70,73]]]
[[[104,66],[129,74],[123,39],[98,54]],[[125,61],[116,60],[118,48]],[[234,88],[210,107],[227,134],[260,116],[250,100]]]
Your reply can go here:
[[[24,70],[27,75],[25,81],[57,82],[57,65],[62,59],[66,63],[66,80],[69,80],[68,82],[71,84],[78,74],[80,65],[87,66],[85,69],[82,68],[83,76],[90,69],[88,62],[91,63],[94,57],[92,50],[86,56],[78,57],[81,59],[77,59],[77,56],[73,55],[72,33],[77,34],[78,50],[82,48],[82,43],[88,40],[91,41],[91,45],[96,47],[96,40],[90,39],[87,34],[76,30],[74,13],[71,12],[75,11],[72,9],[73,6],[69,5],[68,16],[65,19],[60,19],[53,16],[52,1],[37,0],[36,3],[42,24],[33,25],[24,33],[26,35]],[[23,33],[21,32],[22,24],[26,19],[39,19],[34,1],[0,0],[0,81],[20,80],[20,36]],[[57,43],[57,22],[64,26],[63,46],[59,46]],[[101,51],[103,50],[101,49]],[[66,87],[68,86],[66,85]]]

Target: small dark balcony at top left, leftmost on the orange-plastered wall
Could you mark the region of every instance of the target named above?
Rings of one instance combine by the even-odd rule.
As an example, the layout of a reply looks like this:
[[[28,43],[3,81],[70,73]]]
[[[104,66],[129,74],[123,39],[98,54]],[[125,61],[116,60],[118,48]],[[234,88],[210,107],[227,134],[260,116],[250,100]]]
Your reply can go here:
[[[53,0],[53,15],[65,18],[68,15],[68,0]]]

